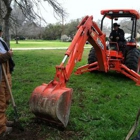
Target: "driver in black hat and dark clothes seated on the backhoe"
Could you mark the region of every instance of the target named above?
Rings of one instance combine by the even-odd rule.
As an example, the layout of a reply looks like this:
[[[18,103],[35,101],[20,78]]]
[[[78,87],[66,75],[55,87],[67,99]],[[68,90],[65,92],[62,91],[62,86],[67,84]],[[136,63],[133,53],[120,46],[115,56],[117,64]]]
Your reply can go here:
[[[117,24],[117,23],[113,24],[114,29],[110,33],[109,38],[112,42],[117,42],[118,46],[121,50],[124,48],[126,40],[125,40],[125,33],[124,33],[123,29],[121,29],[119,27],[120,27],[119,24]]]

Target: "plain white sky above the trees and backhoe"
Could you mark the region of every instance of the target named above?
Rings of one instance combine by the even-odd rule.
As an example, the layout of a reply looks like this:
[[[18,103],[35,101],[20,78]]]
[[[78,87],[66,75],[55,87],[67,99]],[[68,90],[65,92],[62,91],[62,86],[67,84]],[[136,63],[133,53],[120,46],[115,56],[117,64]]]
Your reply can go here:
[[[65,22],[82,18],[86,15],[93,16],[93,20],[101,19],[101,10],[105,9],[135,9],[140,10],[139,0],[58,0],[69,14]],[[42,12],[48,23],[56,23],[61,20],[55,19],[53,10],[48,3],[43,4],[46,12]]]

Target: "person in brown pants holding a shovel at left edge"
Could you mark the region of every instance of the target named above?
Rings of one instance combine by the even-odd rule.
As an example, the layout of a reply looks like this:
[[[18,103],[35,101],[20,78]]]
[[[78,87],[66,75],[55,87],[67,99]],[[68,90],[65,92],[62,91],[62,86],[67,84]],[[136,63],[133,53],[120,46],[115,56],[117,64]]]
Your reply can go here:
[[[2,26],[0,26],[0,135],[7,135],[12,131],[11,125],[13,125],[13,121],[8,121],[6,118],[6,109],[9,104],[10,93],[8,92],[2,65],[5,68],[6,76],[11,87],[11,72],[15,64],[12,60],[13,51],[8,48],[2,39],[2,34]]]

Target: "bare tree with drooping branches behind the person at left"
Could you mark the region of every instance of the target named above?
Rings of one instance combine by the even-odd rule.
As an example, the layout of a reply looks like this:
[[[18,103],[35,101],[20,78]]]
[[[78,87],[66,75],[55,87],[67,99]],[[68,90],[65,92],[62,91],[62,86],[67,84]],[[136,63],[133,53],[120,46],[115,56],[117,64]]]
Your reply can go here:
[[[9,28],[10,28],[10,18],[13,5],[15,3],[22,10],[22,13],[27,19],[35,21],[38,19],[43,20],[41,15],[35,12],[34,8],[38,4],[41,4],[43,0],[0,0],[0,22],[4,25],[4,39],[9,44]],[[61,4],[57,0],[44,0],[47,1],[54,9],[55,16],[65,17],[66,12],[62,8]],[[12,19],[12,18],[11,18]]]

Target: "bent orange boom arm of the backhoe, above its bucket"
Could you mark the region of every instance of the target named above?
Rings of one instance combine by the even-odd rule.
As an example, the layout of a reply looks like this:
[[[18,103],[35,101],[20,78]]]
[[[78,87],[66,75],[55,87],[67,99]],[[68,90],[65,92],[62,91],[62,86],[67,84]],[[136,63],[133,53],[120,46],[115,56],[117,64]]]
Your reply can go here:
[[[65,53],[64,59],[59,66],[56,66],[55,80],[59,79],[59,82],[63,86],[65,86],[66,82],[69,80],[75,64],[81,60],[84,45],[87,40],[94,46],[99,70],[107,72],[105,34],[102,33],[97,24],[92,20],[92,16],[86,16],[81,21],[78,25],[78,31]],[[69,59],[67,60],[67,58]]]

